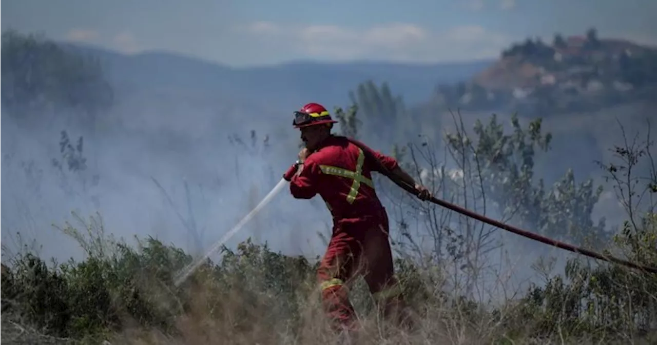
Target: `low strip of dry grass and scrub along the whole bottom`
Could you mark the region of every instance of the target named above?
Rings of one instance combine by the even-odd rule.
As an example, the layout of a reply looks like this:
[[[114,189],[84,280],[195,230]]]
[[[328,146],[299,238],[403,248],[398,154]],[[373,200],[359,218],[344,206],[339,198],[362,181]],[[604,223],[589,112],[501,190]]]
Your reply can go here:
[[[647,230],[657,233],[656,228]],[[91,231],[87,236],[67,231],[81,243],[104,244],[83,245],[87,260],[55,267],[34,256],[16,257],[9,274],[0,279],[0,293],[11,302],[0,323],[3,341],[348,343],[328,327],[315,283],[316,265],[303,258],[246,241],[175,288],[172,277],[191,260],[179,249],[154,239],[135,249],[100,238],[102,231],[95,237]],[[351,296],[363,327],[351,335],[351,344],[650,344],[655,339],[657,280],[650,275],[614,266],[571,265],[544,286],[506,291],[518,297],[492,306],[464,297],[463,289],[445,281],[441,272],[453,268],[417,264],[396,262],[415,329],[405,331],[382,320],[373,312],[363,281],[357,280]],[[597,309],[579,306],[589,302]]]

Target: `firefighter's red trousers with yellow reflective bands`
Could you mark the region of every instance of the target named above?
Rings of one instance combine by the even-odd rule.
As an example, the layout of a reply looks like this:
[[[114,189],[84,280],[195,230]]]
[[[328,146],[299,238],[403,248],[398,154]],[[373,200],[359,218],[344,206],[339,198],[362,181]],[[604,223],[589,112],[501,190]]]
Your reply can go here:
[[[404,301],[394,277],[388,239],[387,215],[374,220],[353,220],[334,225],[317,278],[325,312],[336,327],[355,327],[347,285],[363,274],[370,292],[387,318],[401,322]]]

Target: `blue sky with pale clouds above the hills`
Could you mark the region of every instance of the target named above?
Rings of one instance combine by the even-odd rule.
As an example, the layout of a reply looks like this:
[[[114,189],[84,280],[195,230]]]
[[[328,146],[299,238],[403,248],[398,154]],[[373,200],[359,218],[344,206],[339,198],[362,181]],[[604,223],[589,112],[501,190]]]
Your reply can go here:
[[[601,37],[657,45],[655,13],[657,0],[0,0],[5,28],[231,66],[472,60],[591,26]]]

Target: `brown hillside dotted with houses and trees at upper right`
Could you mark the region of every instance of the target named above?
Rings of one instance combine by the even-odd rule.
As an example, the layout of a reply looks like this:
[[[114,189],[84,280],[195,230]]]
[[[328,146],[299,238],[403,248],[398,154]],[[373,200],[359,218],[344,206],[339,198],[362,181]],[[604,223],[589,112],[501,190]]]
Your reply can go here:
[[[555,35],[552,43],[527,39],[467,83],[442,85],[437,98],[470,110],[554,115],[599,110],[654,94],[657,49],[625,39]]]

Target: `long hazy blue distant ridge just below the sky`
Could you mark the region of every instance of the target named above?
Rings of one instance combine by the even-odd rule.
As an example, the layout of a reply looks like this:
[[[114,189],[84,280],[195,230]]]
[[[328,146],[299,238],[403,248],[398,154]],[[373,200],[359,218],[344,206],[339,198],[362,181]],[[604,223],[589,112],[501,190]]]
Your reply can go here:
[[[131,89],[201,92],[242,101],[298,105],[316,100],[344,104],[359,83],[387,82],[407,102],[426,100],[439,83],[466,81],[494,60],[441,64],[390,62],[288,62],[274,66],[231,68],[170,52],[125,55],[85,45],[70,45],[101,58],[115,85]]]

